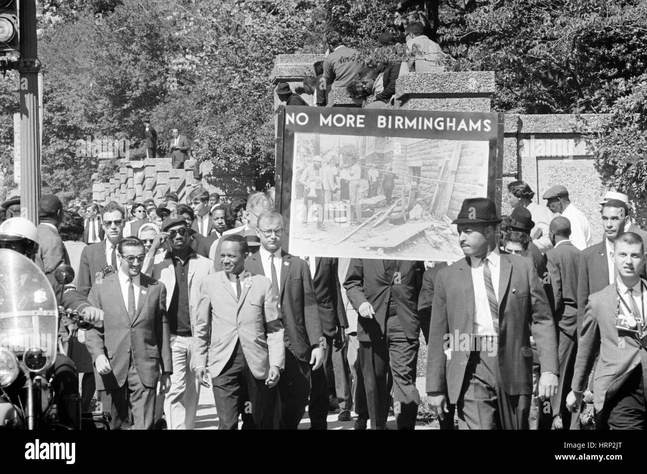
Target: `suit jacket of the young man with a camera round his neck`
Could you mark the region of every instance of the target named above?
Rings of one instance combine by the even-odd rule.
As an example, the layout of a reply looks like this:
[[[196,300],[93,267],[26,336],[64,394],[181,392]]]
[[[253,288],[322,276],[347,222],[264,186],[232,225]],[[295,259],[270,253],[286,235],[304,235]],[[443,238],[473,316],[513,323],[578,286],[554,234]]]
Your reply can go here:
[[[598,363],[593,376],[593,405],[598,412],[622,387],[633,369],[641,363],[638,341],[635,337],[630,337],[630,333],[615,327],[617,311],[615,284],[591,294],[584,311],[584,324],[571,389],[584,391],[599,352],[600,357],[597,357]],[[624,339],[622,348],[619,347],[620,337]]]

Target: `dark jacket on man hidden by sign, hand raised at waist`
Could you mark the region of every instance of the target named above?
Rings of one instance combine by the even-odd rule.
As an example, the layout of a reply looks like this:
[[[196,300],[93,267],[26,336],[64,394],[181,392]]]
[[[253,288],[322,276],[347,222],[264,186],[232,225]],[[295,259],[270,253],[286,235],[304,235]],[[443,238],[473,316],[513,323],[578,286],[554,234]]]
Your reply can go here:
[[[355,311],[364,302],[369,302],[375,310],[373,318],[358,317],[358,341],[379,341],[386,335],[386,311],[389,295],[393,296],[397,315],[408,339],[420,337],[418,317],[418,295],[422,286],[424,266],[422,262],[396,261],[395,273],[384,269],[384,260],[374,258],[353,258],[348,267],[344,282],[346,296]]]

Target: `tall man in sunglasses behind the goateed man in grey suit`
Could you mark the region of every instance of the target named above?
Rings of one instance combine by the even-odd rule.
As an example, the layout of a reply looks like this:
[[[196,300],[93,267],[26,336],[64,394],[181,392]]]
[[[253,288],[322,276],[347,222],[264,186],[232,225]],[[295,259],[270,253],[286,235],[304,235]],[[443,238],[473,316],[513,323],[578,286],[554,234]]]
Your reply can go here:
[[[105,240],[88,245],[81,253],[77,286],[83,296],[87,297],[95,284],[117,271],[116,246],[122,240],[125,224],[124,207],[115,201],[109,202],[102,214]]]

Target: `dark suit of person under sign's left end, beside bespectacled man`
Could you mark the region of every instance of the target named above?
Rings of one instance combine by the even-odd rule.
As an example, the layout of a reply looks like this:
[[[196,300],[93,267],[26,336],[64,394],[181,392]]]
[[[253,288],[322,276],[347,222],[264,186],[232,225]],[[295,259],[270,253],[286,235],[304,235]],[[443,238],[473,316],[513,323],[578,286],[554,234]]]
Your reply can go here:
[[[334,344],[334,339],[339,340],[340,332],[344,332],[345,328],[348,327],[344,300],[342,299],[342,288],[337,277],[337,265],[338,260],[336,258],[315,258],[316,270],[314,272],[313,287],[327,349],[322,367],[325,377],[313,377],[310,392],[310,421],[313,429],[325,429],[327,427],[329,387],[332,387],[336,392],[338,400],[344,403],[342,409],[349,410],[353,405],[351,369],[346,358],[347,346],[344,344],[342,347],[335,347]],[[316,384],[315,382],[319,383]],[[314,414],[319,415],[318,419],[316,416],[313,419],[313,403],[320,403],[320,406],[314,409]]]

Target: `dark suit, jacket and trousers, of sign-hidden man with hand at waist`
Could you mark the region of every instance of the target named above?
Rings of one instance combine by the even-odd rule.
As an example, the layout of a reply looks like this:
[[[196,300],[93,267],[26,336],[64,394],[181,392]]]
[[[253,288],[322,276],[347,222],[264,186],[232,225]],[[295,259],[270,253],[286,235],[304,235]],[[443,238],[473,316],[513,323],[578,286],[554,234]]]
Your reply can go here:
[[[413,429],[419,405],[415,388],[420,319],[421,262],[353,258],[344,282],[346,296],[359,313],[364,302],[372,318],[358,316],[357,339],[371,426],[386,425],[393,374],[393,409],[399,429]]]

